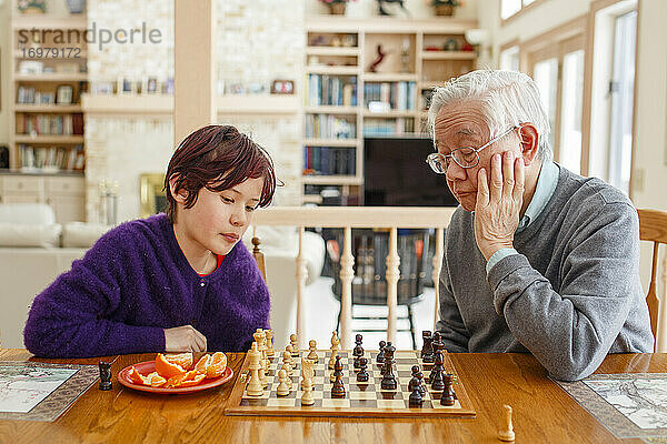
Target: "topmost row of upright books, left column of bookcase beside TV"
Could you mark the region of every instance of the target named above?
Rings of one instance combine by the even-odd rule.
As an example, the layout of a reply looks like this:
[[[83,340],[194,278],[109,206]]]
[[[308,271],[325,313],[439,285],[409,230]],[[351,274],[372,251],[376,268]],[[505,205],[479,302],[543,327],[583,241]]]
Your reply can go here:
[[[356,107],[357,77],[309,74],[307,98],[312,107]]]

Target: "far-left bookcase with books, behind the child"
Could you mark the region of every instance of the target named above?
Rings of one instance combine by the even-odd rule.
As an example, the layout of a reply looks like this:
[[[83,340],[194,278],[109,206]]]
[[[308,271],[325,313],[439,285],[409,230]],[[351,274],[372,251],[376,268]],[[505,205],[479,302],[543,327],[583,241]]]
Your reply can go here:
[[[23,14],[11,2],[10,169],[82,174],[86,14]]]

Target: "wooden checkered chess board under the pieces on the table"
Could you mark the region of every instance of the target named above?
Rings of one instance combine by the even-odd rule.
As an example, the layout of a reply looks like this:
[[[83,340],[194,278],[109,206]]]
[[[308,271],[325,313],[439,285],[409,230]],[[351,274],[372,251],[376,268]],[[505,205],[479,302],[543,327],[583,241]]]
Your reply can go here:
[[[313,405],[301,405],[301,356],[306,356],[308,351],[301,351],[298,357],[293,357],[297,364],[292,370],[292,390],[287,396],[278,396],[276,389],[278,386],[278,370],[282,366],[282,359],[277,355],[270,357],[269,372],[267,374],[268,387],[261,396],[250,396],[246,392],[246,385],[250,380],[248,370],[248,356],[241,366],[241,371],[231,395],[227,401],[225,414],[227,415],[266,415],[266,416],[355,416],[355,417],[392,417],[392,416],[475,416],[475,410],[470,398],[459,381],[456,369],[445,354],[445,371],[454,373],[454,392],[456,402],[454,406],[440,405],[441,392],[432,392],[427,384],[427,393],[424,397],[424,404],[420,407],[409,406],[410,392],[408,383],[411,379],[412,365],[418,364],[421,367],[425,380],[430,374],[432,363],[425,364],[419,357],[419,352],[397,351],[394,355],[394,374],[397,379],[397,390],[382,390],[380,382],[380,364],[376,363],[377,351],[365,351],[365,357],[368,361],[367,372],[368,382],[357,382],[354,369],[354,356],[351,351],[340,351],[338,355],[344,365],[344,377],[346,395],[342,398],[331,397],[331,386],[334,385],[328,369],[330,351],[318,351],[319,361],[315,364]]]

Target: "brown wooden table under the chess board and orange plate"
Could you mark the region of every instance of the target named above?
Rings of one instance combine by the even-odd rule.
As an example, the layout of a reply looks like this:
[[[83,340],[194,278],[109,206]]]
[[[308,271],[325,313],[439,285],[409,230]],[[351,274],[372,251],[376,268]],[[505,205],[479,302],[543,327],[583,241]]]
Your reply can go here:
[[[243,354],[231,353],[236,374]],[[233,382],[190,395],[153,395],[123,387],[118,372],[155,354],[110,356],[113,390],[93,385],[52,423],[0,421],[0,443],[495,443],[502,404],[514,408],[517,443],[643,443],[617,440],[527,354],[452,354],[475,418],[302,418],[225,416]],[[37,360],[24,350],[0,350],[0,361]],[[597,373],[667,372],[667,354],[609,355]]]

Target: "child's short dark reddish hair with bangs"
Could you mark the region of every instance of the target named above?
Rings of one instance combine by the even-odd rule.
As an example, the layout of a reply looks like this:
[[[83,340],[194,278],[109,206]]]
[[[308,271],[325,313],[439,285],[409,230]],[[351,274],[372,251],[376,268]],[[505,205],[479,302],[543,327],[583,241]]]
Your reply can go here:
[[[186,209],[195,206],[199,190],[222,191],[247,179],[263,178],[259,206],[267,206],[276,192],[271,157],[249,137],[231,125],[203,127],[180,143],[167,168],[166,213],[176,222],[176,200],[169,180],[176,178],[173,192],[186,190]]]

